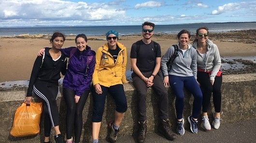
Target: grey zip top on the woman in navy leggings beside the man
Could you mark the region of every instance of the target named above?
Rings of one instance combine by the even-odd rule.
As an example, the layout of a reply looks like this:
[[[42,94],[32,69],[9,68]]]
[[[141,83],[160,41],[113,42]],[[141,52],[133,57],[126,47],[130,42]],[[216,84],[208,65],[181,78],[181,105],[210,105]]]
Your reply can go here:
[[[177,43],[179,47],[179,43]],[[169,61],[174,53],[174,47],[171,46],[164,54],[161,60],[161,68],[164,77],[168,75],[191,77],[194,76],[197,79],[197,51],[192,48],[192,45],[188,44],[187,51],[183,54],[179,47],[178,56],[171,63],[171,69],[168,73],[166,63]]]

